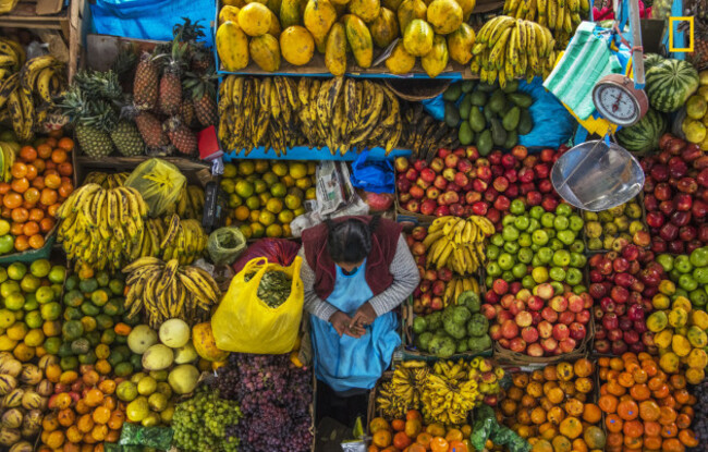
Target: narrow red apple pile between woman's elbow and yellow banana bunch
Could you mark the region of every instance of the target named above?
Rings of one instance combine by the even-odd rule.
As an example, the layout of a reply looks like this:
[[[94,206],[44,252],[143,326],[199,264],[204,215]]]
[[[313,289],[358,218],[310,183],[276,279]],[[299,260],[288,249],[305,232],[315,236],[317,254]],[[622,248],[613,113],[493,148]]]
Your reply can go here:
[[[413,292],[413,311],[416,314],[429,314],[450,304],[450,300],[444,300],[444,294],[453,279],[452,270],[444,267],[440,270],[426,268],[427,248],[423,241],[427,235],[425,227],[417,227],[405,237],[420,273],[420,284]]]

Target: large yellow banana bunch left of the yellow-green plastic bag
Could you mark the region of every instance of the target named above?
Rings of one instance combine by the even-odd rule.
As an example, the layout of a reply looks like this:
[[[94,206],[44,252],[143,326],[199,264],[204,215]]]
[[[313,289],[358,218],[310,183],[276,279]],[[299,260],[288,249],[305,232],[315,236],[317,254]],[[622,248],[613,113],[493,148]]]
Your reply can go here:
[[[135,188],[86,184],[57,210],[57,240],[77,268],[117,270],[141,257],[146,217],[147,205]]]

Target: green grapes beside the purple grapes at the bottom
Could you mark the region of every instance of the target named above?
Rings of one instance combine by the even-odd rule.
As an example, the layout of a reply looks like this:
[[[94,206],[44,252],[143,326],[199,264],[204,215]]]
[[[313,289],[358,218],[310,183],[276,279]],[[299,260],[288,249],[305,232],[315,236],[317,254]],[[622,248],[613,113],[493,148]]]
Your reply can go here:
[[[206,387],[174,410],[174,443],[183,452],[236,452],[239,437],[229,435],[241,418],[239,404]]]

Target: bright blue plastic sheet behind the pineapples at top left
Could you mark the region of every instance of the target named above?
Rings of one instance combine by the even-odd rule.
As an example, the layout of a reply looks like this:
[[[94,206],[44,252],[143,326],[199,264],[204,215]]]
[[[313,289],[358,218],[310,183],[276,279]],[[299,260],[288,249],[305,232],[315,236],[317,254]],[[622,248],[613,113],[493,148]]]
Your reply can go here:
[[[172,27],[182,17],[190,17],[206,28],[207,46],[213,45],[209,33],[209,24],[217,15],[213,0],[96,0],[90,9],[93,28],[101,35],[172,40]]]

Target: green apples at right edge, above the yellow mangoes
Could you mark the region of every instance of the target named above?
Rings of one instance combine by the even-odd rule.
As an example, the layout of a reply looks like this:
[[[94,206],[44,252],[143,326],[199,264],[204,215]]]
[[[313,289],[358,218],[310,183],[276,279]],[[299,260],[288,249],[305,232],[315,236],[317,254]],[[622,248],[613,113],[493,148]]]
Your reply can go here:
[[[676,284],[675,295],[685,296],[694,309],[708,307],[708,246],[694,249],[691,255],[662,254],[657,261]]]

